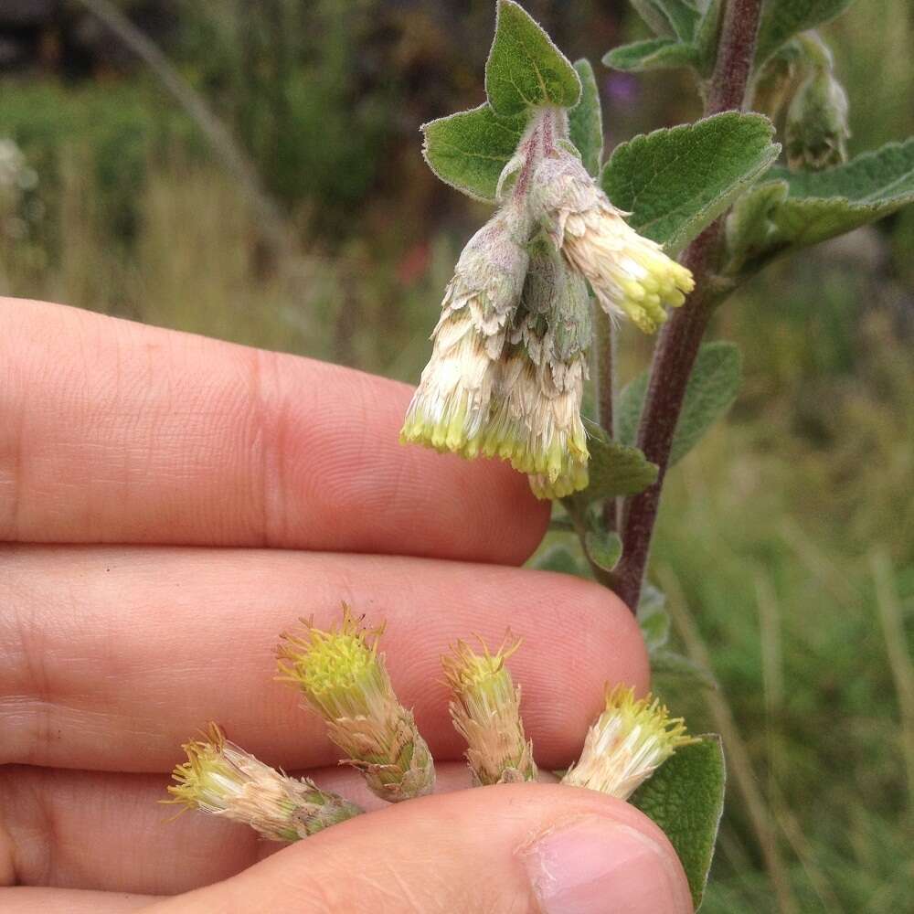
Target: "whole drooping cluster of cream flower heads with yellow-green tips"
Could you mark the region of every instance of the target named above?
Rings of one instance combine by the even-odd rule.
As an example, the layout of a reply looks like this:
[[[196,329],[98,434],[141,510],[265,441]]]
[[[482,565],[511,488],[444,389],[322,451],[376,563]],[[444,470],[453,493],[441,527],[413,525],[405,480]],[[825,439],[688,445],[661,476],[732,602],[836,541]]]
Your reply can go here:
[[[502,206],[463,250],[401,440],[501,457],[540,498],[588,482],[580,405],[590,300],[645,333],[685,301],[691,273],[625,222],[540,112],[499,183]]]

